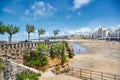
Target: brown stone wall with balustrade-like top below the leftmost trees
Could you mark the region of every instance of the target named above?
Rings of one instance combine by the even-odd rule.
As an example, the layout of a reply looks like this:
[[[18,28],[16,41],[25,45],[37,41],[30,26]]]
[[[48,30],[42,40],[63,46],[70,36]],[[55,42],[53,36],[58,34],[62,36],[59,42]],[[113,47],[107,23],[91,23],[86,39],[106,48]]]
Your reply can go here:
[[[0,43],[0,54],[7,59],[22,63],[23,53],[32,50],[39,42]]]

